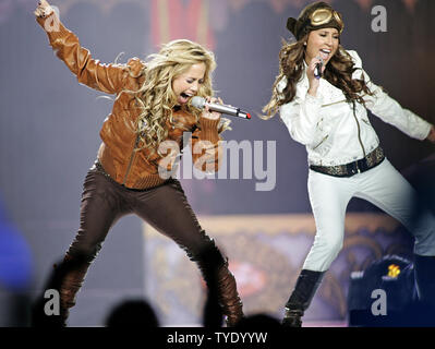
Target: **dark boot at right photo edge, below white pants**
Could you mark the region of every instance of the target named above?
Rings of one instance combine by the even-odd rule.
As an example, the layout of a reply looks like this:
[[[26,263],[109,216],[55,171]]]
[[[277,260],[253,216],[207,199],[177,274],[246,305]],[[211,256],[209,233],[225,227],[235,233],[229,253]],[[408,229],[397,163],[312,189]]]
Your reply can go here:
[[[420,302],[435,310],[435,256],[415,254],[414,273]]]

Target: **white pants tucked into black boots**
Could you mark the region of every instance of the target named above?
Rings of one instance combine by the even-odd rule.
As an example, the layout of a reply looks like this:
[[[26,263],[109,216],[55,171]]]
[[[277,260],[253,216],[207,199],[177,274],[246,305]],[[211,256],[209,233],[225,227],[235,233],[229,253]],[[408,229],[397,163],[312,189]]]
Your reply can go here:
[[[415,254],[435,255],[435,217],[426,209],[415,219],[416,192],[387,159],[350,178],[310,170],[309,194],[317,231],[304,269],[325,272],[337,257],[343,243],[346,208],[353,196],[399,220],[415,238]]]

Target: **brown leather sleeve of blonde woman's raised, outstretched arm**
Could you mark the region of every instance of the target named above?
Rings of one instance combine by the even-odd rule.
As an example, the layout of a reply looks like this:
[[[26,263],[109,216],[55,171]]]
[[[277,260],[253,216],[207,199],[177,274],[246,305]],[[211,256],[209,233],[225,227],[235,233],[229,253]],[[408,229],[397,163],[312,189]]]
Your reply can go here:
[[[118,94],[129,88],[129,85],[133,86],[129,84],[129,80],[140,76],[143,64],[137,58],[131,59],[128,64],[102,64],[93,59],[89,51],[80,45],[78,38],[63,26],[55,12],[48,17],[37,17],[36,21],[47,33],[56,55],[77,76],[80,83],[107,94]]]

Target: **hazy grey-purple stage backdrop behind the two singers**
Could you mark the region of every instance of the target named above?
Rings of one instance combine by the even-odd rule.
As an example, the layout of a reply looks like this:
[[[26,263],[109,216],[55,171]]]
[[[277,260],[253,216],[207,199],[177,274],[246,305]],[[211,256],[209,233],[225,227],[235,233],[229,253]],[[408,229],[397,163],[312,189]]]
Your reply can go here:
[[[403,107],[434,123],[435,2],[329,2],[343,14],[345,48],[358,50],[374,82]],[[82,182],[96,157],[98,132],[111,109],[109,99],[77,84],[55,57],[46,34],[35,22],[36,3],[0,0],[0,195],[10,220],[32,251],[29,298],[41,288],[52,263],[63,256],[75,234]],[[218,96],[253,115],[261,112],[270,97],[281,39],[290,38],[287,17],[297,16],[306,3],[304,0],[52,1],[60,9],[64,25],[102,62],[114,61],[121,52],[124,55],[120,62],[134,56],[145,58],[158,50],[159,44],[173,38],[201,41],[217,57]],[[387,10],[387,32],[371,29],[374,19],[371,10],[375,4]],[[371,120],[390,161],[399,170],[433,153],[434,147],[428,143],[411,140],[376,117]],[[265,164],[266,142],[275,141],[276,185],[270,191],[256,191],[255,184],[264,180],[242,179],[242,176],[241,179],[182,179],[197,214],[311,212],[305,149],[290,139],[278,117],[270,121],[256,117],[251,121],[232,119],[232,131],[223,135],[227,141],[239,143],[262,141],[257,144],[263,146]],[[354,200],[349,210],[375,208]],[[136,217],[126,217],[116,225],[88,274],[81,306],[72,313],[72,324],[101,325],[117,301],[143,294],[143,239]]]

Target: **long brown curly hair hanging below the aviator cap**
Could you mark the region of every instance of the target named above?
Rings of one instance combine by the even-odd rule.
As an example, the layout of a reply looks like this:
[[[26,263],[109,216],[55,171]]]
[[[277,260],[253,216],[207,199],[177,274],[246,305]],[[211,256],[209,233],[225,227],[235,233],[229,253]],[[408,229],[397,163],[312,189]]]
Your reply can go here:
[[[293,100],[297,94],[297,84],[302,79],[302,74],[305,73],[306,46],[304,46],[304,43],[306,43],[309,35],[310,33],[294,43],[282,40],[282,47],[279,51],[279,74],[275,80],[270,100],[263,108],[263,112],[266,113],[263,119],[273,118],[279,111],[280,106]],[[352,74],[357,70],[352,57],[339,45],[325,67],[324,79],[340,88],[348,103],[353,105],[360,103],[365,106],[363,96],[373,96],[373,93],[367,87],[362,72],[360,79],[352,79]],[[283,77],[287,77],[287,86],[282,92],[279,92],[278,84]]]

